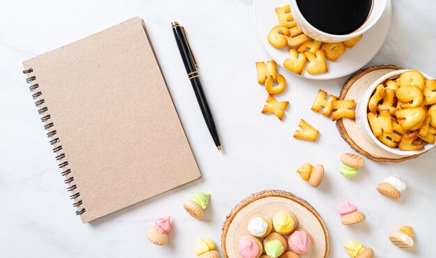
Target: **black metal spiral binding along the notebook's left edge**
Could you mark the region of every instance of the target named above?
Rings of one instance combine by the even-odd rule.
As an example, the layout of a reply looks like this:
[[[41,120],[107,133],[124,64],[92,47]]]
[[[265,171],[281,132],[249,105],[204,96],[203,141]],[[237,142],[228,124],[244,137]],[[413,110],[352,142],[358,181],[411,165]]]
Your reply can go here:
[[[36,80],[35,75],[30,75],[31,73],[33,73],[33,68],[23,70],[23,73],[28,76],[26,79],[27,83],[31,84],[31,82]],[[39,88],[38,83],[33,83],[33,84],[31,84],[31,86],[29,86],[29,90],[34,92],[32,94],[32,98],[34,100],[36,100],[36,102],[35,102],[36,107],[40,107],[41,105],[45,104],[45,100],[44,100],[44,98],[42,98],[42,92],[36,91],[36,89],[38,89],[38,88]],[[48,112],[48,111],[49,111],[49,109],[47,107],[41,107],[40,109],[38,109],[38,114],[40,114],[40,115],[44,114],[41,117],[41,121],[43,123],[45,123],[45,125],[44,125],[45,130],[49,130],[49,128],[54,128],[54,123],[52,121],[50,121],[50,119],[52,119],[52,116],[50,116],[50,114],[45,114],[45,112]],[[54,137],[54,135],[56,135],[56,130],[54,130],[54,129],[49,130],[49,132],[47,132],[47,137],[49,137],[49,138]],[[61,142],[61,140],[58,137],[56,137],[54,139],[50,139],[51,145],[55,145],[59,142]],[[56,160],[63,160],[66,158],[65,153],[58,153],[59,151],[62,151],[62,150],[63,150],[62,145],[54,146],[53,152],[56,153]],[[63,160],[62,162],[60,162],[58,167],[62,169],[62,173],[61,173],[62,176],[67,176],[68,174],[71,173],[71,169],[68,168],[68,161],[66,161],[66,160],[65,161]],[[77,190],[76,184],[70,185],[70,183],[72,183],[73,181],[75,181],[74,176],[70,176],[64,180],[64,182],[66,184],[68,184],[68,188],[67,188],[68,192],[72,192],[74,190]],[[74,192],[74,193],[72,192],[72,195],[70,195],[70,199],[75,200],[75,202],[72,204],[72,206],[77,208],[76,215],[81,215],[81,214],[86,212],[86,208],[80,207],[80,206],[83,206],[84,202],[81,199],[77,199],[79,197],[80,197],[80,192]]]

